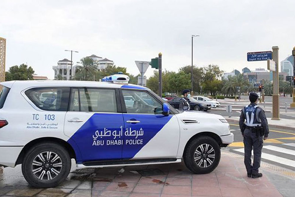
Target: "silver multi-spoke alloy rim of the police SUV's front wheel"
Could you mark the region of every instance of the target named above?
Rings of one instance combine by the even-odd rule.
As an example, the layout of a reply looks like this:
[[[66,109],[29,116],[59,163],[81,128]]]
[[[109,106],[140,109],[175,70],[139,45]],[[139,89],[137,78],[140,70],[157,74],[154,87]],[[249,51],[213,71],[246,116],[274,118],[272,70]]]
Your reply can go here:
[[[210,144],[199,145],[194,152],[194,161],[201,168],[210,167],[215,160],[215,150]]]

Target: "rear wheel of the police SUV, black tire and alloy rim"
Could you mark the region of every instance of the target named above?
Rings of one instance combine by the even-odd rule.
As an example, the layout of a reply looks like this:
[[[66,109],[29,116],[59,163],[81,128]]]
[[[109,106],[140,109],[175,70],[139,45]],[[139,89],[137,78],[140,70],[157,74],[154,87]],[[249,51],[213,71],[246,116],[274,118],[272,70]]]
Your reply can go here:
[[[36,188],[58,186],[67,178],[70,170],[71,158],[67,150],[51,142],[33,146],[22,162],[24,178]]]

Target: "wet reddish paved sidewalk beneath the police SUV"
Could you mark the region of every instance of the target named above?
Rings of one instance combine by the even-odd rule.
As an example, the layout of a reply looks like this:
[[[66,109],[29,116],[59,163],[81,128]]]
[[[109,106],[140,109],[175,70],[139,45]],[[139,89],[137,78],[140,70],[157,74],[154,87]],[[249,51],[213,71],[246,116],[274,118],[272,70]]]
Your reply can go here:
[[[294,194],[295,191],[290,190],[280,193],[270,181],[276,179],[268,178],[278,175],[263,167],[262,178],[248,178],[242,158],[241,155],[222,150],[219,166],[205,175],[192,174],[183,163],[79,169],[72,171],[62,185],[49,189],[30,188],[20,174],[20,166],[16,169],[5,168],[0,174],[0,196],[281,197],[281,193],[284,193],[285,197],[289,197],[289,194]],[[163,173],[159,171],[158,175],[142,176],[137,172],[141,169],[158,169]],[[283,177],[279,183],[286,185],[290,180]]]

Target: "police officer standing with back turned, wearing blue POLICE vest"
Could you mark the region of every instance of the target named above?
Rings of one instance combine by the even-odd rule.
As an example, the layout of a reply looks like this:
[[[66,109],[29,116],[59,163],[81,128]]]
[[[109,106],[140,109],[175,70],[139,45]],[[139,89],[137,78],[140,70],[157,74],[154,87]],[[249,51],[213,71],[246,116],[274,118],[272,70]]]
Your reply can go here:
[[[268,123],[264,110],[258,107],[258,95],[251,92],[249,95],[250,105],[242,109],[240,115],[240,129],[244,137],[245,158],[244,163],[247,169],[248,177],[262,177],[262,173],[258,173],[261,161],[261,151],[263,140],[268,137]],[[244,123],[246,119],[246,122]],[[251,162],[251,152],[253,148],[254,160]]]

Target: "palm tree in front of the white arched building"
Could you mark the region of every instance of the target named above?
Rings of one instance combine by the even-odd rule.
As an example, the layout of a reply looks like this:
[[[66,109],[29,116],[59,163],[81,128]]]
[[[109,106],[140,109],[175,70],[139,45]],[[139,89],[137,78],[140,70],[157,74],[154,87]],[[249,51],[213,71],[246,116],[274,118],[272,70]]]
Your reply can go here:
[[[83,81],[92,81],[92,77],[97,72],[97,66],[94,65],[94,60],[91,58],[82,58],[80,61],[82,62],[83,66],[77,67],[75,79]]]

